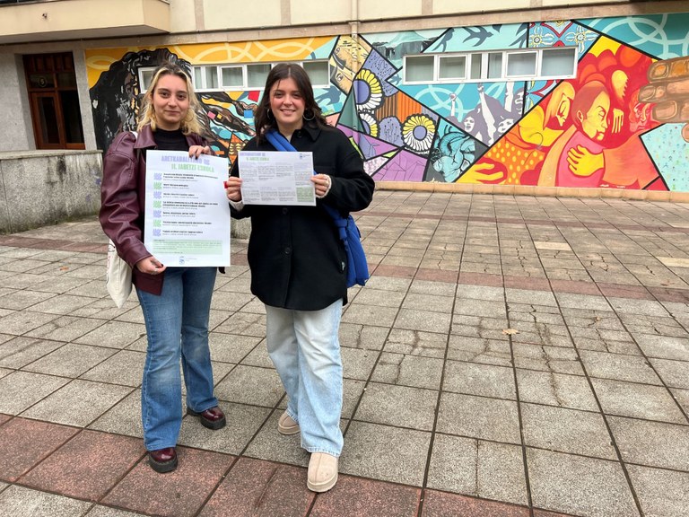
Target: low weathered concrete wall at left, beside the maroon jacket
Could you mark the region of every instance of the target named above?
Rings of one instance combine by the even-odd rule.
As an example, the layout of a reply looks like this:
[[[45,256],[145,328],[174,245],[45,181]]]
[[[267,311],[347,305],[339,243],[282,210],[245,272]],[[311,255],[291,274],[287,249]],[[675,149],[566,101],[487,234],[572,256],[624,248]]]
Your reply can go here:
[[[95,151],[0,153],[0,232],[22,232],[100,208]]]

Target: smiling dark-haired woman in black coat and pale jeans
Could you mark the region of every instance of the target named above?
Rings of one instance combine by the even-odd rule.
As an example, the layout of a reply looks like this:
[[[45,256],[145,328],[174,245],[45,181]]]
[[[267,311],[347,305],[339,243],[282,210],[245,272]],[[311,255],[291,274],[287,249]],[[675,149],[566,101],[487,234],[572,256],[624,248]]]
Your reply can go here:
[[[289,399],[282,434],[301,433],[311,454],[307,486],[325,492],[337,481],[343,446],[342,358],[338,331],[346,303],[346,255],[323,205],[342,215],[371,203],[374,182],[347,137],[328,127],[309,75],[283,63],[268,74],[246,151],[275,151],[275,129],[300,153],[313,153],[316,206],[247,205],[241,201],[239,160],[227,182],[232,216],[251,217],[251,292],[266,305],[266,343]]]

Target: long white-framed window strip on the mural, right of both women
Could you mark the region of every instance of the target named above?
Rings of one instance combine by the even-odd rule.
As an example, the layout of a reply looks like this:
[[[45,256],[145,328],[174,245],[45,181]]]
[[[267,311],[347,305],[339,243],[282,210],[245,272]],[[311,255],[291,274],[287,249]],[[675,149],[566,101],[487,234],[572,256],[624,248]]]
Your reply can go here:
[[[529,48],[405,57],[405,83],[471,83],[571,79],[577,48]]]

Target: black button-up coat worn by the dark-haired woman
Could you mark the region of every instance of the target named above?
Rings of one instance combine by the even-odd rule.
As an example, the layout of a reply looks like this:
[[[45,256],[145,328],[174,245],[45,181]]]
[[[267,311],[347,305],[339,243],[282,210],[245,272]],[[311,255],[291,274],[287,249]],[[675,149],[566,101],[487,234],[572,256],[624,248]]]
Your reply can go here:
[[[327,203],[342,215],[369,206],[375,182],[360,154],[335,127],[304,126],[292,145],[313,153],[313,166],[330,176],[327,196],[316,206],[247,205],[232,216],[251,217],[248,259],[251,292],[261,302],[298,311],[318,311],[338,299],[346,302],[346,255],[335,223],[321,207]],[[275,151],[267,142],[249,140],[246,151]],[[239,160],[231,174],[240,176]]]

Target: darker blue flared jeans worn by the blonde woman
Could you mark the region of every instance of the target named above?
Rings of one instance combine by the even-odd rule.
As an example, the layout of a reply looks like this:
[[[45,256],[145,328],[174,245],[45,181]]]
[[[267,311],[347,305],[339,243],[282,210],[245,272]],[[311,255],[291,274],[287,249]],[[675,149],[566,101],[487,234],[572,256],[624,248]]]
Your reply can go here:
[[[148,338],[141,386],[147,451],[177,445],[182,425],[180,359],[187,406],[201,412],[218,405],[208,348],[215,271],[215,267],[168,267],[160,295],[136,290]]]

